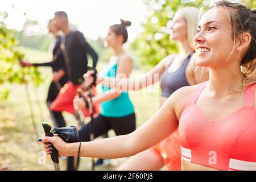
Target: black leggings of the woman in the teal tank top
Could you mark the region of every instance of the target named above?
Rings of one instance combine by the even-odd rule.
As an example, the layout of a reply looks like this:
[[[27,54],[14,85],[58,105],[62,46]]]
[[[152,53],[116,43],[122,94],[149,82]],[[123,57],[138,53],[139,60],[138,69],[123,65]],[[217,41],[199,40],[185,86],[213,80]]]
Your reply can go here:
[[[135,113],[127,115],[126,117],[121,118],[110,118],[104,117],[101,114],[97,118],[93,119],[94,122],[94,138],[100,137],[103,134],[108,133],[109,130],[113,129],[116,135],[126,135],[133,132],[136,129],[135,123]],[[81,142],[90,141],[90,127],[91,123],[89,122],[79,131],[79,139]],[[68,171],[76,170],[74,167],[74,158],[68,157]],[[78,164],[77,164],[78,167]]]

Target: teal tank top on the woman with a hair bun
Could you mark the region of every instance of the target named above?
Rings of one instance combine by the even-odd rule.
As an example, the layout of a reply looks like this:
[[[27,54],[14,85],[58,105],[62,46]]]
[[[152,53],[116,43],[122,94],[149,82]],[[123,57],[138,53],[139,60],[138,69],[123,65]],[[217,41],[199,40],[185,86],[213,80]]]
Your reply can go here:
[[[113,65],[108,65],[102,72],[100,72],[100,76],[108,76],[115,77],[117,73],[117,63]],[[101,86],[102,92],[112,89],[106,86]],[[121,95],[113,100],[101,102],[101,115],[105,117],[125,117],[127,115],[134,113],[134,106],[130,101],[129,94],[127,92],[122,92]]]

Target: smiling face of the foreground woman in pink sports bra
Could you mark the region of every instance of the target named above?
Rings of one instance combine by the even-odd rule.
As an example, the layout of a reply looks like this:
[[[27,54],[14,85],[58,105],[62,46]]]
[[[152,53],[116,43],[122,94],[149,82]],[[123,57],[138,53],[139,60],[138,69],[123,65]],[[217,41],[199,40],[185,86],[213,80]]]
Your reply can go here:
[[[207,11],[199,22],[194,38],[196,64],[200,67],[218,67],[230,63],[236,56],[232,31],[224,9],[214,7]]]

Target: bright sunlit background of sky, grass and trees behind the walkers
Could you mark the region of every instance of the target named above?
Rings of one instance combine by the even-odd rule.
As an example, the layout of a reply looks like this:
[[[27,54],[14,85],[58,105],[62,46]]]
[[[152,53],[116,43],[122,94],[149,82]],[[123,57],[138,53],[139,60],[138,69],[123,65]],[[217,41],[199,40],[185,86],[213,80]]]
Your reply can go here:
[[[81,31],[99,55],[100,71],[113,55],[104,47],[104,38],[119,19],[131,21],[127,29],[129,41],[125,51],[133,58],[133,77],[143,75],[163,57],[177,53],[166,27],[175,12],[184,6],[200,7],[212,0],[1,0],[0,2],[0,170],[53,170],[51,159],[39,164],[42,146],[32,126],[43,134],[42,121],[51,121],[46,97],[52,80],[51,68],[21,68],[18,57],[31,63],[51,61],[51,45],[47,23],[56,11],[66,11],[71,28]],[[236,0],[251,9],[255,0]],[[196,31],[196,30],[195,30]],[[24,75],[23,75],[24,73]],[[24,77],[23,77],[24,76]],[[27,89],[26,89],[27,88]],[[135,106],[137,127],[159,109],[159,84],[150,92],[130,92]],[[146,90],[147,91],[147,90]],[[32,110],[28,103],[31,100]],[[64,113],[67,126],[77,125],[73,115]],[[109,136],[114,136],[111,130]],[[39,136],[38,136],[39,137]],[[112,166],[97,170],[114,170],[123,160],[112,160]],[[90,159],[82,158],[80,170],[90,170]],[[60,162],[65,169],[65,160]],[[165,168],[163,168],[165,169]]]

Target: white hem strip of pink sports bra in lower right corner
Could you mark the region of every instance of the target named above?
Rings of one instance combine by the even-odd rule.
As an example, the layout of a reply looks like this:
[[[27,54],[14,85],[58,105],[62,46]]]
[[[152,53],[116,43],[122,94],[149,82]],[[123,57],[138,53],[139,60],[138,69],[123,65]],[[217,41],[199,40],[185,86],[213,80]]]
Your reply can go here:
[[[256,162],[247,162],[244,160],[229,159],[229,168],[242,171],[256,171]]]

